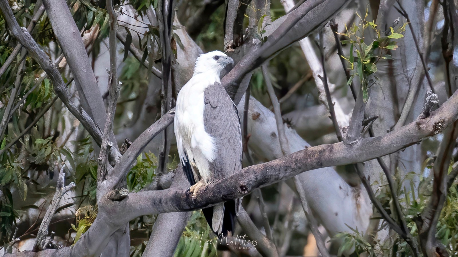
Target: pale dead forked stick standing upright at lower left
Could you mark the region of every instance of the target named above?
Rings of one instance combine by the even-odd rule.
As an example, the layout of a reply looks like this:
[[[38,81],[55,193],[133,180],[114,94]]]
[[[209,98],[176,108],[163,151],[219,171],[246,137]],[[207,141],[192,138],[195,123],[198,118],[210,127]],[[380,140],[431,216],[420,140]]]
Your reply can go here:
[[[44,249],[44,245],[46,243],[46,236],[48,236],[48,229],[49,223],[51,223],[51,219],[54,216],[54,213],[59,205],[60,198],[70,191],[73,187],[75,187],[75,183],[71,182],[67,186],[65,186],[65,165],[60,168],[59,178],[57,179],[57,186],[56,186],[56,193],[54,194],[51,203],[49,204],[49,208],[46,210],[46,214],[44,214],[43,221],[41,222],[40,228],[37,233],[37,238],[35,241],[35,245],[33,246],[33,251],[38,252]]]

